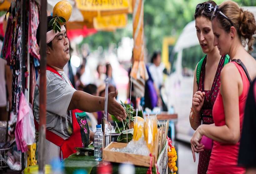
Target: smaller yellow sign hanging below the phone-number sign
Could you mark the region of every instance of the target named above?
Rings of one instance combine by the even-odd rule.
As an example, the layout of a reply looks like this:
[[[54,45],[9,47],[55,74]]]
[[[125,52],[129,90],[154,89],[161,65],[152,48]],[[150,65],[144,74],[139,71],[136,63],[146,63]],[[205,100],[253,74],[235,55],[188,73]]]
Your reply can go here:
[[[124,28],[127,24],[127,15],[98,16],[93,18],[93,26],[96,30],[114,30]]]

